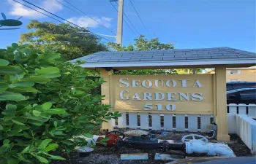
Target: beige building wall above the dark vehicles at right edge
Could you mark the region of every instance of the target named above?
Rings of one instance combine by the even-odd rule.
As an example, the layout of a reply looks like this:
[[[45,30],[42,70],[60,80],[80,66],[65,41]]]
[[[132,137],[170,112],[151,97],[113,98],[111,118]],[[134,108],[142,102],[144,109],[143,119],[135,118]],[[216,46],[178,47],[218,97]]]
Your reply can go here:
[[[230,74],[230,71],[238,70],[239,74]],[[256,82],[256,69],[227,69],[227,82]]]

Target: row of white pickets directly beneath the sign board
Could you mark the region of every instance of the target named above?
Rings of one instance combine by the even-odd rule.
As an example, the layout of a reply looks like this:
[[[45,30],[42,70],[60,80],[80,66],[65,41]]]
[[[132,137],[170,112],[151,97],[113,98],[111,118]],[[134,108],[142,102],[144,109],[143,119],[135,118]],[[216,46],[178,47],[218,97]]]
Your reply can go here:
[[[115,122],[115,127],[210,132],[211,129],[208,129],[207,125],[213,121],[214,116],[206,114],[122,113],[122,116]]]

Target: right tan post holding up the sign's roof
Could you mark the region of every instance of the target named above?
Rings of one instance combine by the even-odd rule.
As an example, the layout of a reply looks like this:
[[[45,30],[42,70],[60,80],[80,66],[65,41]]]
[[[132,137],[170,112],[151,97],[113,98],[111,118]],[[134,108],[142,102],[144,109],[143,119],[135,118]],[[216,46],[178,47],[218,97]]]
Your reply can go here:
[[[227,126],[226,68],[215,68],[217,140],[230,141]]]

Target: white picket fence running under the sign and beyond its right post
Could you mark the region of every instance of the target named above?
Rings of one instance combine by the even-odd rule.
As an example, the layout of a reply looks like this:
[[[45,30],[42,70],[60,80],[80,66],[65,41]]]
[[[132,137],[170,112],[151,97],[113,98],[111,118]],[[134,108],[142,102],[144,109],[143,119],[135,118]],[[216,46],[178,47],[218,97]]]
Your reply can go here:
[[[214,115],[208,114],[157,114],[124,112],[112,127],[143,130],[176,130],[189,132],[211,132],[208,125],[214,122]],[[256,104],[228,104],[227,118],[229,133],[236,133],[236,114],[246,114],[256,118]]]

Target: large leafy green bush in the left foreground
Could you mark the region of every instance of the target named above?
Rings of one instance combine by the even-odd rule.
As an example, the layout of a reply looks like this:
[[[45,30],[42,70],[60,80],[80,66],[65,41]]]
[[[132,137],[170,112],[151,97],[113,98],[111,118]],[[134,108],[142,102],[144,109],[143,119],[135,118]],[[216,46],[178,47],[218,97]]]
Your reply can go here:
[[[49,50],[0,50],[0,163],[64,160],[60,154],[86,144],[74,136],[90,137],[91,128],[120,115],[90,95],[104,81],[87,75]]]

